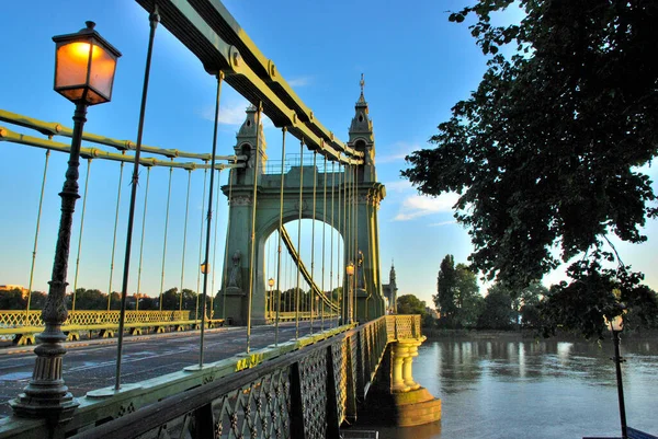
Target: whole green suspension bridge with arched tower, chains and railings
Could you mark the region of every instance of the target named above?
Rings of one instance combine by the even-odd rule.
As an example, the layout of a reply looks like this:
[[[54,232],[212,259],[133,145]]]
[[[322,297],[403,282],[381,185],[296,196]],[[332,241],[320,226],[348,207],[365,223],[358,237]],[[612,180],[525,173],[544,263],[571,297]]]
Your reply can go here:
[[[80,105],[72,129],[0,109],[0,141],[45,151],[25,308],[0,311],[0,335],[13,337],[16,345],[38,346],[32,378],[9,402],[12,416],[0,420],[0,438],[338,437],[341,426],[365,409],[367,394],[377,392],[392,396],[387,401],[399,425],[438,420],[440,401],[411,374],[412,358],[424,339],[420,317],[392,315],[395,285],[387,293],[382,287],[377,209],[386,192],[377,182],[363,77],[343,142],[314,116],[219,1],[137,3],[146,11],[150,33],[136,140],[78,129],[84,117]],[[160,25],[216,78],[209,153],[143,145],[151,48]],[[216,139],[223,83],[251,105],[232,151],[219,146],[220,155]],[[281,129],[279,160],[266,154],[264,116]],[[43,253],[37,247],[47,246],[41,222],[56,215],[44,210],[45,188],[58,180],[48,172],[52,151],[61,158],[68,153],[69,162],[59,194],[60,231],[49,236],[57,240],[50,289],[45,303],[35,308],[33,282]],[[80,195],[79,158],[87,162]],[[103,186],[116,178],[112,199],[95,208],[88,207],[88,193],[94,189],[92,163],[100,169]],[[122,195],[126,163],[134,166],[127,207]],[[223,172],[228,172],[224,184]],[[151,193],[154,187],[160,189]],[[203,187],[201,197],[192,187]],[[178,201],[175,194],[181,195]],[[217,249],[222,197],[227,200],[223,256]],[[154,203],[163,204],[162,217],[148,216]],[[202,204],[196,218],[190,208],[195,203]],[[104,219],[91,243],[88,229],[97,221],[86,222],[88,216]],[[161,227],[151,227],[154,221]],[[122,224],[125,242],[120,239]],[[154,236],[156,230],[159,236]],[[69,245],[71,231],[78,234],[75,245]],[[179,240],[178,252],[171,250],[172,235]],[[99,244],[99,236],[109,242]],[[89,246],[94,251],[86,251]],[[107,254],[101,255],[101,249]],[[117,255],[122,250],[123,261]],[[180,259],[171,263],[171,253]],[[86,254],[93,255],[88,257],[94,264]],[[106,259],[106,268],[99,272],[100,258]],[[72,278],[67,278],[69,262]],[[121,263],[122,287],[113,300],[118,285],[115,264]],[[92,265],[103,273],[93,279],[98,284],[104,277],[106,293],[100,293],[99,309],[81,309],[83,299],[78,296],[87,291],[79,288],[80,279]],[[172,277],[175,287],[167,290]],[[145,291],[146,278],[159,284],[157,294]],[[186,288],[194,280],[196,288]],[[72,289],[65,294],[67,285]],[[294,324],[293,338],[280,336],[284,322]],[[206,330],[223,325],[245,327],[243,353],[208,362]],[[273,343],[257,346],[252,328],[263,325],[271,327]],[[195,363],[158,379],[126,383],[125,336],[184,330],[198,333]],[[64,342],[113,336],[114,385],[73,395],[66,385]]]

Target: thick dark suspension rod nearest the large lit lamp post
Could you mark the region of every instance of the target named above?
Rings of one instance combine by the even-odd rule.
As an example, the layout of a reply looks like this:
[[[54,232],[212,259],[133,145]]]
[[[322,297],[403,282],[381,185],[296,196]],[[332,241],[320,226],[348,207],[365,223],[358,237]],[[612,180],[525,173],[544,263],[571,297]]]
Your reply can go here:
[[[156,27],[158,26],[158,22],[160,21],[160,15],[158,14],[158,4],[156,3],[154,7],[154,12],[151,12],[148,16],[150,32],[148,36],[148,49],[146,54],[146,68],[144,72],[144,86],[141,89],[141,104],[139,107],[139,123],[137,128],[137,143],[135,146],[135,166],[133,169],[133,181],[131,188],[131,204],[128,208],[128,224],[126,231],[126,253],[124,258],[124,274],[123,281],[121,288],[121,311],[118,319],[118,340],[116,343],[116,373],[115,373],[115,383],[114,390],[118,390],[121,388],[121,357],[123,350],[123,331],[126,317],[126,294],[128,290],[128,277],[129,277],[129,268],[131,268],[131,247],[133,243],[133,222],[135,220],[135,198],[137,196],[137,184],[139,182],[139,155],[141,153],[141,135],[144,134],[144,116],[146,113],[146,97],[148,94],[148,80],[150,77],[150,62],[154,51],[154,39],[156,36]],[[146,213],[146,210],[145,210]]]

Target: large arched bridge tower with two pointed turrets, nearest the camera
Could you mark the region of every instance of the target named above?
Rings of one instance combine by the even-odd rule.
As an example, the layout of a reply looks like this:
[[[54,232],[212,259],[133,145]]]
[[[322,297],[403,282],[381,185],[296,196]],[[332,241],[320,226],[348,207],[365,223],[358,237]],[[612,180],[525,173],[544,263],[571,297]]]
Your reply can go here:
[[[223,270],[223,282],[219,296],[222,303],[220,315],[230,319],[232,324],[245,325],[248,320],[249,303],[249,276],[253,274],[253,291],[251,304],[251,324],[264,324],[265,322],[265,297],[268,291],[265,276],[265,241],[272,232],[279,229],[280,211],[283,212],[283,223],[299,219],[299,192],[302,192],[302,218],[313,219],[313,175],[311,165],[288,166],[283,178],[283,209],[281,209],[281,174],[265,173],[268,155],[265,153],[265,138],[262,124],[257,120],[258,112],[254,107],[247,109],[247,117],[242,123],[234,147],[237,155],[246,166],[232,169],[229,175],[229,184],[222,187],[224,194],[229,198],[228,231],[226,236],[226,249],[228,257],[225,257]],[[260,130],[260,132],[259,132]],[[324,187],[327,181],[328,190],[330,185],[339,181],[341,190],[347,184],[355,195],[355,227],[348,231],[339,218],[338,208],[331,209],[327,205],[324,211],[322,203],[316,203],[315,219],[333,224],[343,240],[347,238],[358,240],[358,249],[361,252],[361,263],[355,268],[358,280],[355,282],[355,314],[354,319],[360,322],[376,319],[384,315],[385,305],[382,293],[382,281],[379,276],[379,239],[377,209],[379,201],[385,196],[384,185],[377,182],[375,172],[375,142],[373,124],[368,117],[368,107],[363,96],[363,79],[361,96],[355,105],[355,115],[349,131],[348,146],[364,152],[364,164],[356,166],[355,172],[345,173],[339,177],[339,171],[332,174],[328,166],[324,172],[315,170],[317,187]],[[295,150],[290,145],[295,145],[295,139],[288,136],[286,150]],[[298,143],[296,143],[298,145]],[[320,157],[321,158],[321,157]],[[254,178],[256,173],[256,178]],[[300,174],[302,178],[300,178]],[[354,176],[355,175],[355,176]],[[354,182],[354,177],[356,181]],[[299,182],[302,180],[302,188]],[[256,227],[254,227],[254,267],[250,269],[251,252],[251,218],[253,182],[257,184],[256,203]],[[318,194],[320,194],[318,192]],[[319,195],[321,197],[321,195]],[[354,201],[350,199],[351,201]],[[331,218],[331,215],[336,216]],[[349,224],[349,222],[348,222]],[[347,243],[345,243],[347,246]],[[354,252],[356,253],[356,252]],[[353,256],[347,253],[343,261],[347,265]],[[354,261],[358,264],[356,261]],[[342,267],[340,269],[343,269]],[[344,272],[343,272],[344,273]],[[319,281],[318,281],[319,284]],[[348,300],[348,286],[343,285],[343,300]],[[347,315],[343,315],[347,322]]]

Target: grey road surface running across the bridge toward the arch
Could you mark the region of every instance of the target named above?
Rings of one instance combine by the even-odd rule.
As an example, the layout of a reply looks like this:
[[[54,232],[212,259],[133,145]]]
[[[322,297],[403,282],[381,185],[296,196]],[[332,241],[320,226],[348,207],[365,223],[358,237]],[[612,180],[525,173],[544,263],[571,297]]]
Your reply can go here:
[[[325,328],[329,326],[325,322]],[[336,325],[336,321],[332,322]],[[315,322],[317,332],[320,322]],[[299,323],[299,336],[309,333],[307,322]],[[282,323],[279,340],[295,338],[295,324]],[[251,328],[251,349],[274,343],[274,326]],[[222,327],[205,331],[204,362],[215,362],[245,351],[246,327]],[[135,383],[177,372],[198,363],[200,331],[124,337],[122,383]],[[94,389],[114,385],[116,338],[92,339],[66,344],[64,380],[76,397]],[[0,349],[0,417],[11,415],[7,402],[27,385],[34,369],[34,347]]]

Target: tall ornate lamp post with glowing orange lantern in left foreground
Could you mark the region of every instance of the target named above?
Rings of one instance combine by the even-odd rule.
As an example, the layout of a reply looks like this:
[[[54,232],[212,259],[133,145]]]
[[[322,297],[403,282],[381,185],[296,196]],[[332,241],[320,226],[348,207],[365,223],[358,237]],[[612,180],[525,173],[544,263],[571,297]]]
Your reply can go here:
[[[66,274],[73,211],[78,195],[78,167],[82,128],[87,122],[89,105],[109,102],[112,97],[116,60],[121,53],[93,30],[94,23],[75,34],[54,36],[55,42],[55,91],[73,104],[73,134],[68,169],[61,197],[59,232],[55,246],[53,275],[48,298],[42,311],[45,330],[37,335],[41,344],[34,349],[36,360],[32,380],[15,400],[10,402],[14,413],[23,417],[47,418],[52,423],[64,423],[71,418],[79,405],[61,378],[61,363],[66,349],[61,342],[66,335],[61,324],[68,317],[66,309]]]

